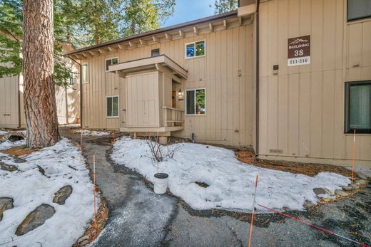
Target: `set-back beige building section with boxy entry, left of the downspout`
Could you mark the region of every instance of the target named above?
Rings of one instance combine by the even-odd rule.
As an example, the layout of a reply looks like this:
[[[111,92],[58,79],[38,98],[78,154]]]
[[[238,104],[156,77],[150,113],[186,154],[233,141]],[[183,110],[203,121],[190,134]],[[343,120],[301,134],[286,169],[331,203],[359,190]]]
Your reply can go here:
[[[237,11],[68,53],[82,127],[253,144],[253,13]]]

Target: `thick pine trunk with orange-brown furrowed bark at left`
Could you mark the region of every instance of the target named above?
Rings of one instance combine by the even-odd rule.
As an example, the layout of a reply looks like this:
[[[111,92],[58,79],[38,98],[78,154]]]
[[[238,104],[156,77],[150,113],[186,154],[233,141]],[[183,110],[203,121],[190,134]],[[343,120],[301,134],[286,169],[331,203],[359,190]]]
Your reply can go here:
[[[54,89],[53,0],[24,0],[24,107],[31,148],[59,141]]]

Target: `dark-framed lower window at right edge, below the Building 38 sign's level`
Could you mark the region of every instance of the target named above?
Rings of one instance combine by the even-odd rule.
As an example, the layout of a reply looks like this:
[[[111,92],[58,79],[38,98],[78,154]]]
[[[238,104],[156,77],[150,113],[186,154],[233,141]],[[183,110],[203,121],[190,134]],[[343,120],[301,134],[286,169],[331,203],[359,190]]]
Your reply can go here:
[[[345,84],[345,132],[371,133],[371,81]]]

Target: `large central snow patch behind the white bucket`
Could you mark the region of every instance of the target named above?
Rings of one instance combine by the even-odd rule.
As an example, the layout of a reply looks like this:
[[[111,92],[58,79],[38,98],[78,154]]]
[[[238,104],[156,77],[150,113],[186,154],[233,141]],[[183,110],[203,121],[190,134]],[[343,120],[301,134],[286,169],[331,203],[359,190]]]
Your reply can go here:
[[[181,196],[193,209],[251,211],[255,175],[259,174],[256,201],[273,209],[304,210],[308,199],[317,203],[314,188],[340,189],[350,179],[339,174],[321,172],[315,177],[263,169],[238,161],[232,150],[203,144],[173,144],[178,147],[173,159],[159,164],[160,172],[169,174],[168,187]],[[111,158],[143,174],[153,182],[156,164],[153,164],[148,144],[144,140],[122,137],[113,146]],[[205,182],[203,188],[195,182]],[[260,212],[267,212],[258,208]]]

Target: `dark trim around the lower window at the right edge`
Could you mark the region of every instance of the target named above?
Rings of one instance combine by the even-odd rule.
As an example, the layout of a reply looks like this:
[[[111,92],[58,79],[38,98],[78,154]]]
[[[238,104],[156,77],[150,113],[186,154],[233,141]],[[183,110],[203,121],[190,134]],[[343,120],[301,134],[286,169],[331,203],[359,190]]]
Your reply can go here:
[[[371,80],[357,80],[345,82],[345,107],[344,107],[344,134],[352,134],[354,129],[349,127],[350,124],[350,87],[354,85],[371,85]],[[371,134],[370,129],[356,129],[358,134]]]

